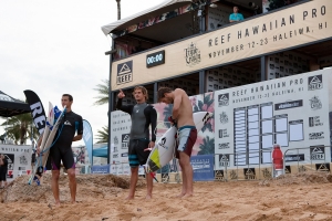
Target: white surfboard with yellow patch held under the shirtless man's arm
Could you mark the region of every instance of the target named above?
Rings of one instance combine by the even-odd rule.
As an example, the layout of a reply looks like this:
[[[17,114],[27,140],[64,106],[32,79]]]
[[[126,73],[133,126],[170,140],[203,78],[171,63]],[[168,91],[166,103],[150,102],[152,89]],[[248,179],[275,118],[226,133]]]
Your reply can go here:
[[[194,122],[197,133],[204,127],[208,119],[211,118],[214,114],[209,112],[196,112],[194,113]],[[156,143],[156,146],[151,151],[146,165],[145,171],[154,172],[166,166],[174,157],[175,154],[175,134],[177,128],[172,126]]]

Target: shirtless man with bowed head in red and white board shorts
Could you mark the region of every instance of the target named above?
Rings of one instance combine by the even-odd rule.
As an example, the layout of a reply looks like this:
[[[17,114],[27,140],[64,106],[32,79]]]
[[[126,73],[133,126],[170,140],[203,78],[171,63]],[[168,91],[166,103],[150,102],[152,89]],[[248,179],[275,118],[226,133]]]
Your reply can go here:
[[[193,105],[187,93],[180,88],[172,91],[168,87],[160,87],[158,90],[158,102],[173,104],[172,118],[178,128],[176,157],[179,159],[183,170],[183,189],[178,197],[190,197],[194,194],[190,156],[197,138]]]

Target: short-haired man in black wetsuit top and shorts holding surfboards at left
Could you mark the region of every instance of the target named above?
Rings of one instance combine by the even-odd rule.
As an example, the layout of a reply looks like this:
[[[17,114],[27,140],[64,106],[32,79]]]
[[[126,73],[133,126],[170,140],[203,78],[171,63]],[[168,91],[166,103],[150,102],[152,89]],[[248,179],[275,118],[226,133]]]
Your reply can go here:
[[[82,139],[83,135],[83,120],[82,117],[72,112],[73,97],[70,94],[62,95],[61,98],[62,106],[65,106],[66,113],[59,126],[58,133],[55,135],[55,144],[50,149],[50,156],[48,159],[46,168],[52,169],[52,191],[55,199],[55,204],[60,204],[59,198],[59,177],[60,177],[60,166],[61,160],[66,169],[69,177],[69,186],[71,190],[71,202],[75,203],[76,198],[76,177],[75,177],[75,162],[72,151],[72,143]],[[76,134],[76,136],[75,136]],[[59,136],[59,137],[58,137]],[[40,154],[40,145],[42,140],[40,139],[38,144],[37,152]]]

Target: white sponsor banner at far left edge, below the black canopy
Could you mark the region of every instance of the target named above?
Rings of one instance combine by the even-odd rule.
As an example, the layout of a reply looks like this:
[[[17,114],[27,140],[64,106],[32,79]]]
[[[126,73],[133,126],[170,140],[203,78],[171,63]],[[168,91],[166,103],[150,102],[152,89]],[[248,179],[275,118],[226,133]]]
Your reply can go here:
[[[31,146],[0,144],[0,154],[8,160],[7,181],[31,172]]]

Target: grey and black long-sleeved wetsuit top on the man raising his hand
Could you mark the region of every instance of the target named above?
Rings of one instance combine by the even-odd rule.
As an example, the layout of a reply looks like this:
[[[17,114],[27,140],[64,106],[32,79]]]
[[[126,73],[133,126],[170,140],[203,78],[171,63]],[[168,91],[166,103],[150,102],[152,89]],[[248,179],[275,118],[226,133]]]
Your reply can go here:
[[[136,105],[122,105],[122,99],[117,101],[116,108],[128,113],[132,117],[131,139],[149,139],[148,126],[152,126],[152,141],[156,141],[156,109],[146,103]]]

